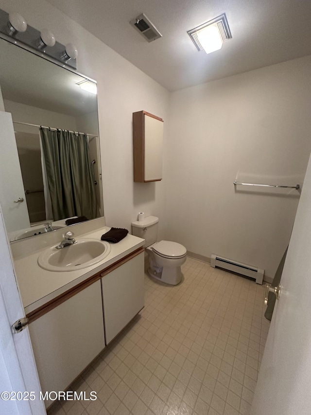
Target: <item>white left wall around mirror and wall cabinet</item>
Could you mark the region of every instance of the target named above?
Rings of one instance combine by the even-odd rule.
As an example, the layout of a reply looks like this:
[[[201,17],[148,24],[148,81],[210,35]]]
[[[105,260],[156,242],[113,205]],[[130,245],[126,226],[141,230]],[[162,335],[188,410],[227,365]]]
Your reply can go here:
[[[144,109],[167,121],[169,92],[46,1],[2,0],[1,8],[74,43],[78,71],[97,80],[107,225],[130,230],[141,210],[163,217],[163,183],[133,182],[132,113]]]

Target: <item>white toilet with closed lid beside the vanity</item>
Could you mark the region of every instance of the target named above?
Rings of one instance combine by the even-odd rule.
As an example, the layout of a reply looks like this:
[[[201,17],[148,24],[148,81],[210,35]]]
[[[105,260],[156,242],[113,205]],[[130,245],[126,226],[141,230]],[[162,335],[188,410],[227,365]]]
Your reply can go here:
[[[132,234],[146,240],[148,274],[166,284],[177,285],[182,278],[181,266],[186,261],[187,250],[177,242],[156,242],[158,221],[158,217],[148,216],[141,221],[132,222]]]

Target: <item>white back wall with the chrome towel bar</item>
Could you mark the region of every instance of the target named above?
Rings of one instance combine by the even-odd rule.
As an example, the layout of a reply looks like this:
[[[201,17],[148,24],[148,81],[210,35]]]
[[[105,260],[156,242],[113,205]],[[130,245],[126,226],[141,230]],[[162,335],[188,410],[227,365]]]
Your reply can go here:
[[[166,235],[273,277],[299,193],[233,181],[302,184],[311,150],[311,56],[171,95]]]

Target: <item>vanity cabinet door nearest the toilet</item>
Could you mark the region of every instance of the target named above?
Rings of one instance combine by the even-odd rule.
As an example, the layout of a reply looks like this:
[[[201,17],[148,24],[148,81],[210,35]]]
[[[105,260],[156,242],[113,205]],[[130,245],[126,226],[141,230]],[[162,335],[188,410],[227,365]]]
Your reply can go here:
[[[108,344],[144,307],[144,253],[104,275],[102,289]]]

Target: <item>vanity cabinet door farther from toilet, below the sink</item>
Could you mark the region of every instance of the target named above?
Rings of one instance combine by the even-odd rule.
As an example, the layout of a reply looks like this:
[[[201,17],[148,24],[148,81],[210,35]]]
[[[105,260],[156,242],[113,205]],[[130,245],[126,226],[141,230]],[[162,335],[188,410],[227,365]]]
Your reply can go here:
[[[105,347],[101,281],[39,317],[29,331],[42,392],[65,391]]]

